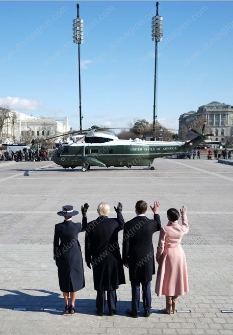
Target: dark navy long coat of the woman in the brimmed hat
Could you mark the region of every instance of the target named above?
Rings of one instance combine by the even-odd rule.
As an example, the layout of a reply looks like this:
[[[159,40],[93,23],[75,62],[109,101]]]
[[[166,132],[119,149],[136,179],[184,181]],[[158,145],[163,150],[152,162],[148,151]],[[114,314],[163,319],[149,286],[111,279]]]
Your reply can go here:
[[[85,287],[82,251],[77,239],[83,230],[81,223],[71,220],[55,225],[54,260],[62,292],[76,292]]]

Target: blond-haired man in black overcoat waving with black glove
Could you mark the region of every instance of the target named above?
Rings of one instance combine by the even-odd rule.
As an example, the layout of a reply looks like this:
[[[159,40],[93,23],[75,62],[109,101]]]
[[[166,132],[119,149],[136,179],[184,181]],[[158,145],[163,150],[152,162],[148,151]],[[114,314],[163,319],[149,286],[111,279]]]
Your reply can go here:
[[[97,291],[96,313],[99,316],[103,316],[105,311],[106,291],[109,316],[116,313],[116,290],[125,284],[118,243],[118,233],[124,226],[122,204],[118,202],[114,209],[117,218],[109,218],[110,205],[101,202],[97,208],[99,217],[89,222],[86,228],[85,259],[90,269],[92,265],[94,289]]]

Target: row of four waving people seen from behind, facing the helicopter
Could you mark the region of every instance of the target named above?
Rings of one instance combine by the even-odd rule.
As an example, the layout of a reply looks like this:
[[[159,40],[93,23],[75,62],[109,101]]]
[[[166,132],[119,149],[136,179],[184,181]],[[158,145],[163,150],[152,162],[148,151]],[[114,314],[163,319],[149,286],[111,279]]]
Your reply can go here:
[[[107,202],[98,204],[97,219],[88,222],[85,203],[81,208],[83,220],[74,223],[72,216],[79,212],[73,206],[63,206],[59,216],[64,221],[55,225],[54,260],[58,267],[60,290],[65,300],[65,314],[75,313],[77,291],[85,287],[83,258],[78,235],[85,231],[85,261],[93,271],[94,289],[96,294],[96,313],[105,313],[106,293],[108,315],[117,313],[117,293],[120,285],[125,284],[124,268],[129,271],[132,291],[131,308],[126,313],[133,318],[139,317],[140,286],[142,287],[142,302],[144,317],[149,317],[151,311],[152,276],[156,273],[152,236],[160,231],[156,261],[158,263],[155,292],[157,296],[166,296],[165,314],[176,310],[179,295],[189,291],[186,256],[180,245],[184,234],[188,233],[187,208],[180,210],[182,225],[178,224],[179,212],[170,208],[167,211],[168,224],[161,227],[159,209],[160,203],[155,201],[150,209],[153,219],[146,216],[147,203],[137,201],[136,217],[124,222],[122,204],[118,202],[116,218],[109,218],[110,205]],[[122,256],[118,243],[118,233],[123,229]],[[70,302],[69,302],[70,296]]]

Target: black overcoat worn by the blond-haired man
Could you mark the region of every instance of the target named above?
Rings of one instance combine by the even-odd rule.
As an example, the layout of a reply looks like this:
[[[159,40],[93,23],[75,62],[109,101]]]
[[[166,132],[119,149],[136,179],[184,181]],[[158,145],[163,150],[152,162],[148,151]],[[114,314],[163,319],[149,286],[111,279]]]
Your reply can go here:
[[[117,219],[100,216],[88,223],[85,237],[86,263],[92,264],[94,289],[110,291],[125,284],[124,269],[118,244],[123,229],[121,213]]]

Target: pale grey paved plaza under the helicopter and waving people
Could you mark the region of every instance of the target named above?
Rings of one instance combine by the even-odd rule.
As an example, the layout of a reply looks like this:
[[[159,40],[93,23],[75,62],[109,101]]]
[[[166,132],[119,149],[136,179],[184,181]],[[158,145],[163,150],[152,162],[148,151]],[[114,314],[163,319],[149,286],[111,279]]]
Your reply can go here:
[[[0,334],[209,334],[232,335],[233,313],[233,166],[216,161],[156,159],[154,171],[145,167],[64,170],[53,162],[0,163]],[[165,297],[154,293],[149,318],[133,319],[131,286],[117,291],[117,315],[95,315],[92,271],[84,262],[86,287],[78,292],[77,313],[63,315],[64,302],[53,260],[57,212],[71,204],[81,212],[89,203],[88,221],[97,217],[97,204],[123,203],[125,221],[135,216],[137,200],[161,202],[161,223],[166,211],[187,205],[190,230],[182,245],[187,257],[190,292],[179,297],[174,315],[158,310]],[[152,218],[152,212],[147,215]],[[82,219],[81,213],[74,221]],[[84,257],[85,233],[79,235]],[[159,233],[153,235],[157,247]],[[122,243],[122,231],[119,234]],[[156,265],[157,269],[157,265]],[[26,308],[26,310],[14,310]],[[191,312],[185,312],[190,310]],[[106,308],[107,312],[107,308]],[[106,313],[107,314],[107,313]]]

